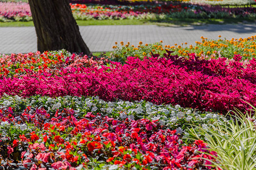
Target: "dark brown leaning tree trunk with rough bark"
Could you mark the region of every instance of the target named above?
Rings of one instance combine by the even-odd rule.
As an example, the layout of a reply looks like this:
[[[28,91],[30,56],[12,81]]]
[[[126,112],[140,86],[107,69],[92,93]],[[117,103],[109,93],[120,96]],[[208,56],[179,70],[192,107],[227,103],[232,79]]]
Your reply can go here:
[[[38,50],[66,49],[90,55],[68,0],[28,0],[38,36]]]

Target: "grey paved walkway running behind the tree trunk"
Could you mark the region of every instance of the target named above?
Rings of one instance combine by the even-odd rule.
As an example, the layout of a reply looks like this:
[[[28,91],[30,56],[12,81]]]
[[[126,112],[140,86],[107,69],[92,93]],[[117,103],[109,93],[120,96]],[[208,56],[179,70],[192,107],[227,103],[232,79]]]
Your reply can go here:
[[[138,45],[163,41],[163,45],[187,42],[195,44],[200,37],[218,39],[245,38],[256,35],[256,24],[193,25],[189,27],[163,27],[158,25],[93,25],[80,27],[80,33],[92,52],[112,50],[114,42],[131,42]],[[0,53],[36,52],[34,27],[0,27]]]

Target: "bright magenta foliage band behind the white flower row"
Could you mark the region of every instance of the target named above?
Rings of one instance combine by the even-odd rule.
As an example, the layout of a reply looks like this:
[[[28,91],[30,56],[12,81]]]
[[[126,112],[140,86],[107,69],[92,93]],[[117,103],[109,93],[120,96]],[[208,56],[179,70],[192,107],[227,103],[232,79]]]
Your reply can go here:
[[[100,67],[67,67],[0,80],[0,95],[99,96],[104,100],[147,100],[155,104],[171,103],[205,111],[244,110],[256,103],[255,59],[247,63],[226,58],[128,57],[127,64],[112,62]]]

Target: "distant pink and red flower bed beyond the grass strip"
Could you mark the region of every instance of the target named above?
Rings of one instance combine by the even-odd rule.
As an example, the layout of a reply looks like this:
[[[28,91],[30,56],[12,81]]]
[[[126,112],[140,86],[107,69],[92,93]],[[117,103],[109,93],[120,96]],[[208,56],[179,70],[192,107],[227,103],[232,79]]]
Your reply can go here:
[[[171,18],[193,19],[224,19],[242,18],[255,19],[254,7],[220,7],[209,5],[194,5],[191,3],[168,2],[151,5],[81,5],[71,4],[73,16],[77,20],[105,19],[146,19],[168,20]],[[31,11],[28,3],[0,2],[0,21],[29,21]]]

